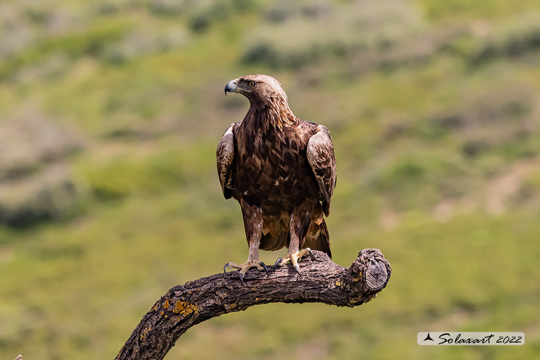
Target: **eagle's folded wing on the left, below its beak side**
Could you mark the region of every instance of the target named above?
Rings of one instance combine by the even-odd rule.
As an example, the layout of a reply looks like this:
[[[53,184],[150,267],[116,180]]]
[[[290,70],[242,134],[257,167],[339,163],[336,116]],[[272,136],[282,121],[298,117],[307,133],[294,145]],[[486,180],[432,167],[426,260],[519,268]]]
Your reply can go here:
[[[218,150],[215,152],[215,159],[218,165],[218,176],[221,190],[225,199],[231,199],[233,191],[233,160],[234,160],[234,123],[227,127],[225,134],[221,138]]]

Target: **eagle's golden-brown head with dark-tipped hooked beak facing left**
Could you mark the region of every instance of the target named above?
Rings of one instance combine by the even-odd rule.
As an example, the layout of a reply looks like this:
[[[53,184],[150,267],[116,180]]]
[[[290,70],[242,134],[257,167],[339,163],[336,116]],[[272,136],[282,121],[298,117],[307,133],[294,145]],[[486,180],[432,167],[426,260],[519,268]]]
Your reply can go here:
[[[268,75],[246,75],[231,80],[225,86],[225,95],[227,92],[241,93],[249,99],[252,105],[287,103],[287,94],[281,88],[279,81]]]

